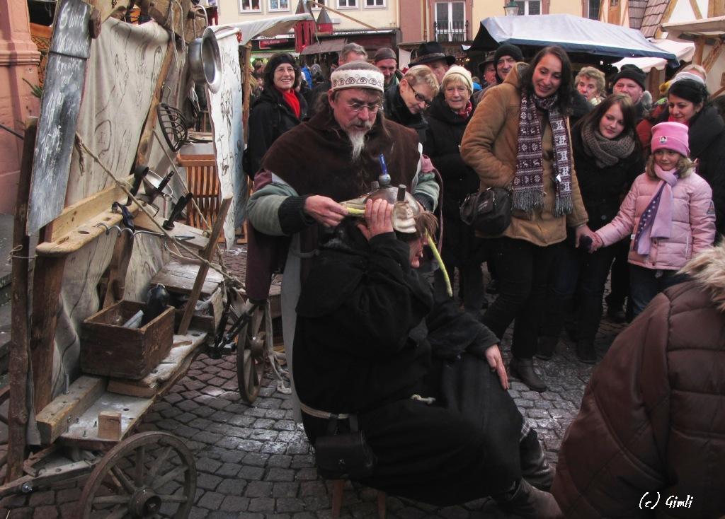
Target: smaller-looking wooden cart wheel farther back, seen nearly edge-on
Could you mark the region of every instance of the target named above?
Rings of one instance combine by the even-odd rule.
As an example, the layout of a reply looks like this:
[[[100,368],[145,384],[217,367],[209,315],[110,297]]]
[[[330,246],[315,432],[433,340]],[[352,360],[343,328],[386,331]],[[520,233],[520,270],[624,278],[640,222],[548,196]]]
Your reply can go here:
[[[265,303],[254,309],[247,326],[236,338],[236,379],[239,394],[250,404],[260,394],[260,384],[265,373],[265,346],[272,340],[268,329],[268,308]]]

